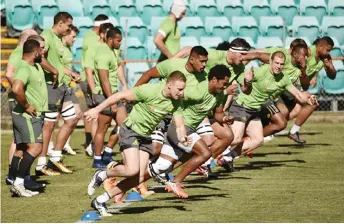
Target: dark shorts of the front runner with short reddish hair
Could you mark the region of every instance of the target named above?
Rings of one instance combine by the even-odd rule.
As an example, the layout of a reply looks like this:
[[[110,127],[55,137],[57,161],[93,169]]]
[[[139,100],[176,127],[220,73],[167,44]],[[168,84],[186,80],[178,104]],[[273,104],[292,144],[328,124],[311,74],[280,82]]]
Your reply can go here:
[[[119,149],[122,152],[128,148],[137,148],[147,152],[150,156],[154,155],[152,138],[150,136],[142,136],[136,133],[123,123],[119,130]]]

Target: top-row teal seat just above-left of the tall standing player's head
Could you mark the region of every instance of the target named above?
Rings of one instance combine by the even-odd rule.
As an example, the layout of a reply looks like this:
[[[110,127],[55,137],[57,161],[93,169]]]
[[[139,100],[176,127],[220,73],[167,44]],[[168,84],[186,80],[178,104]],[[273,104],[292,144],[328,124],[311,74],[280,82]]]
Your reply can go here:
[[[53,17],[59,12],[55,0],[31,0],[33,11],[36,13],[37,25],[43,29],[43,18]]]

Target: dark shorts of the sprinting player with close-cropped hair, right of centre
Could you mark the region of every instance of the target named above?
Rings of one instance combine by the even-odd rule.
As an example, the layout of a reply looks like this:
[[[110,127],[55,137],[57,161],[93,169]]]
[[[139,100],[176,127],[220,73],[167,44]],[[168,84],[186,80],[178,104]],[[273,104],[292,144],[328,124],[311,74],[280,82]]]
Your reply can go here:
[[[251,120],[260,120],[260,110],[248,109],[234,101],[229,108],[229,114],[234,117],[234,121],[249,122]]]

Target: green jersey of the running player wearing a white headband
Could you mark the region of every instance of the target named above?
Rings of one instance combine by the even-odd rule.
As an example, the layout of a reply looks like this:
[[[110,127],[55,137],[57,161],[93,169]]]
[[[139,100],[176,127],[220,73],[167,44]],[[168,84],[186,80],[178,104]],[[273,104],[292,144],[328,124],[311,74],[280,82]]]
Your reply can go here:
[[[208,62],[207,72],[210,71],[215,65],[225,65],[231,71],[229,82],[233,79],[237,79],[240,74],[245,71],[245,65],[243,63],[239,65],[231,65],[227,62],[227,51],[220,51],[214,49],[207,49],[208,51]]]

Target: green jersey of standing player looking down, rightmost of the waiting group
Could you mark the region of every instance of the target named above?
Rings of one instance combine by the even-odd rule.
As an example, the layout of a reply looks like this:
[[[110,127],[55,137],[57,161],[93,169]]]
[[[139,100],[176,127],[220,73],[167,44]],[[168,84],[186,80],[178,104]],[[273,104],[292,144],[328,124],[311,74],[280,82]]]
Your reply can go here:
[[[94,57],[94,81],[95,81],[95,94],[103,94],[103,90],[100,85],[100,78],[98,69],[109,71],[109,82],[111,86],[111,92],[117,92],[117,76],[118,67],[121,63],[121,58],[118,50],[112,50],[107,44],[100,45],[97,53]]]

